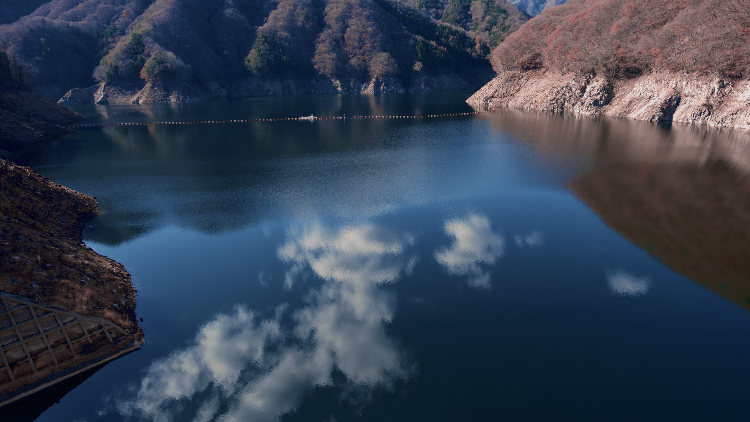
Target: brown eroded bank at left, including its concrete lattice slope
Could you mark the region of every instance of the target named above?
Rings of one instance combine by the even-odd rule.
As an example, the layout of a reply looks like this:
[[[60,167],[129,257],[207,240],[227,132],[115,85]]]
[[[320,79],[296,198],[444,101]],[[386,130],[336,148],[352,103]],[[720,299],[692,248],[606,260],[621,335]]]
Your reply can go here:
[[[0,331],[7,328],[10,333],[0,340],[8,361],[4,366],[11,368],[0,374],[5,376],[0,378],[0,396],[12,396],[71,367],[142,343],[130,274],[118,262],[83,244],[83,228],[98,213],[96,199],[5,160],[0,160],[0,190],[0,292],[28,299],[28,306],[17,303],[10,306],[10,312],[6,309],[0,315]],[[39,313],[34,309],[44,312],[43,308],[50,308],[81,318],[66,322],[55,317],[58,324],[47,328],[26,322],[33,319],[23,319],[27,308],[31,314]],[[89,317],[92,321],[113,322],[121,328],[121,335],[115,337],[100,329],[102,335],[94,338],[91,328],[86,328],[89,322],[84,321]],[[38,329],[26,332],[24,324],[32,331]],[[65,333],[59,328],[63,326]],[[55,331],[60,335],[53,337]],[[77,342],[74,331],[83,332],[82,341]],[[43,340],[36,351],[26,344],[34,339]],[[40,368],[38,357],[45,354],[49,355],[49,366]],[[29,361],[33,371],[22,368]]]

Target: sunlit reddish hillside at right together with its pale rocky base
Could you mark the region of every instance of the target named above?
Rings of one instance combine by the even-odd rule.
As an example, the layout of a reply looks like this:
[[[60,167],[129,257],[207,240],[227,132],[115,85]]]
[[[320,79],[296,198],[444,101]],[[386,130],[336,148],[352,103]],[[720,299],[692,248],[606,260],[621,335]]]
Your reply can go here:
[[[750,128],[750,0],[570,0],[492,62],[469,102]]]

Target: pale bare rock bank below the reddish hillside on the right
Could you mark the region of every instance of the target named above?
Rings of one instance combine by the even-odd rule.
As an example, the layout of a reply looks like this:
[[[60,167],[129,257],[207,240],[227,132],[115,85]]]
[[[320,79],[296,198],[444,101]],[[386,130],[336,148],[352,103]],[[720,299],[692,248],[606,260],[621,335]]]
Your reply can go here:
[[[650,73],[610,79],[582,73],[508,71],[466,100],[477,106],[678,121],[750,129],[750,81]]]

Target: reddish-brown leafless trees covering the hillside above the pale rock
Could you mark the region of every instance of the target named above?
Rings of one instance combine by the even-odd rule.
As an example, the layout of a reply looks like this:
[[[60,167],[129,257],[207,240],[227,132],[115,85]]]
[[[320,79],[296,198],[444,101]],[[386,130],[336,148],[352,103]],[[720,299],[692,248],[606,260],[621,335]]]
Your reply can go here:
[[[630,76],[647,70],[750,74],[750,0],[571,0],[493,52],[496,71],[545,67]]]

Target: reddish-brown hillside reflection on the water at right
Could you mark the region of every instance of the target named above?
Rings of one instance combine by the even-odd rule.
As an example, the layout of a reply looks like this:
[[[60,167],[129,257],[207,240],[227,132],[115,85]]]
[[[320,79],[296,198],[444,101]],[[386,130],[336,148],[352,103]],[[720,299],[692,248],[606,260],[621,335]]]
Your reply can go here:
[[[634,244],[750,310],[750,132],[514,110],[493,124],[544,154],[598,158],[569,183],[576,196]]]

